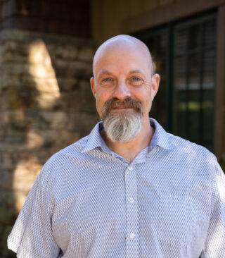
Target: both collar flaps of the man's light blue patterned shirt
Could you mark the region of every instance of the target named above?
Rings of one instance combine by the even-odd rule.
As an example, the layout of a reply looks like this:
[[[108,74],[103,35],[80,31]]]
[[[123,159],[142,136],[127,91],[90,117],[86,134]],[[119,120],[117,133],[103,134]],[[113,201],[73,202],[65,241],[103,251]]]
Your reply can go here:
[[[172,149],[174,145],[169,140],[169,133],[167,133],[155,119],[149,118],[149,121],[150,125],[155,129],[153,138],[150,141],[150,150],[154,149],[156,146],[160,146],[163,149]],[[105,141],[101,137],[100,132],[102,129],[103,123],[100,121],[95,125],[93,130],[91,130],[86,146],[82,152],[89,152],[91,149],[95,149],[97,147],[101,147],[105,152],[110,152],[110,149],[108,149],[107,145],[105,145]]]

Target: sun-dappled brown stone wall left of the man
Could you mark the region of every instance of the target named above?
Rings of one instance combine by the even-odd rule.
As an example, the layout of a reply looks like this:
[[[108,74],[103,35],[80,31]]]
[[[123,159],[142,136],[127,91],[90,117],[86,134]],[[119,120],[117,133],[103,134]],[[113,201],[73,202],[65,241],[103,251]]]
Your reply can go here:
[[[96,124],[90,39],[0,33],[0,257],[41,166]]]

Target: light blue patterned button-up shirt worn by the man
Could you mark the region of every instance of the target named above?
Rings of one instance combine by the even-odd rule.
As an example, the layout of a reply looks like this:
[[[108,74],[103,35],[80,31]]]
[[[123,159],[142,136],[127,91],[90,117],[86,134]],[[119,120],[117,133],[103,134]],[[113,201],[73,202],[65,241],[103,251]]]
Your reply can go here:
[[[8,236],[18,257],[225,257],[225,176],[204,147],[155,127],[129,164],[98,123],[46,162]]]

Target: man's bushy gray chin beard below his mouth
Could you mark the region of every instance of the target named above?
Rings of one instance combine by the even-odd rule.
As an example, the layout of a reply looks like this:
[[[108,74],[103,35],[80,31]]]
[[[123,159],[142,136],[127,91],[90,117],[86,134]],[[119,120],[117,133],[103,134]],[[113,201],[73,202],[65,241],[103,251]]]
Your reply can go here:
[[[112,142],[129,142],[142,128],[142,113],[138,111],[110,111],[103,120],[105,132]]]

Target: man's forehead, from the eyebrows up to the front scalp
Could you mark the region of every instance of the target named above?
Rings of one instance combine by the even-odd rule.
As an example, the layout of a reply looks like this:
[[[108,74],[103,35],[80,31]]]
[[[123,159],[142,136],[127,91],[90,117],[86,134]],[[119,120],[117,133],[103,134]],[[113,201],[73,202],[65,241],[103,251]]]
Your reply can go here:
[[[148,56],[149,55],[149,56]],[[94,60],[94,73],[142,70],[150,73],[150,54],[137,44],[112,44],[98,51]]]

